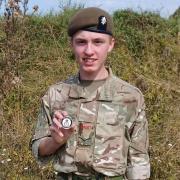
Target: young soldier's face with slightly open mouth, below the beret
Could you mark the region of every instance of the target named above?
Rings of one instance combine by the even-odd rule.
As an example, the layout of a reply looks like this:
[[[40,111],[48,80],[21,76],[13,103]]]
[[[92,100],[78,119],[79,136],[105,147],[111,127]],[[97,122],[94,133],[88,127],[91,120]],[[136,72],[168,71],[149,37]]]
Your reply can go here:
[[[114,47],[114,38],[102,33],[78,31],[71,43],[80,74],[104,72],[107,55]]]

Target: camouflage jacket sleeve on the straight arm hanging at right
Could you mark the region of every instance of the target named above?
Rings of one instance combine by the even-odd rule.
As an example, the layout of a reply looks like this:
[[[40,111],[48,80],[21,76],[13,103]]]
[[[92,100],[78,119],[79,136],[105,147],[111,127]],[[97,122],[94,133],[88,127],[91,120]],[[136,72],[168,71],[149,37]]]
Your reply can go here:
[[[129,180],[148,179],[150,177],[148,122],[145,115],[144,98],[141,93],[133,119],[126,176]]]

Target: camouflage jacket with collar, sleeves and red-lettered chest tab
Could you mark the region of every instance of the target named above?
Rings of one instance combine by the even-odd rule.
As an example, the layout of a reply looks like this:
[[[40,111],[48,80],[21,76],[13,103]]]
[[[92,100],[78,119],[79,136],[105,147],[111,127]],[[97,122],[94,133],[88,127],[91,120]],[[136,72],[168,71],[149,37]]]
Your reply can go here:
[[[40,157],[41,138],[50,136],[55,110],[65,110],[76,129],[56,154]],[[88,93],[78,76],[51,86],[42,97],[32,140],[39,163],[53,159],[58,172],[100,172],[107,176],[126,174],[128,179],[150,177],[148,123],[141,92],[127,82],[109,77],[95,92]]]

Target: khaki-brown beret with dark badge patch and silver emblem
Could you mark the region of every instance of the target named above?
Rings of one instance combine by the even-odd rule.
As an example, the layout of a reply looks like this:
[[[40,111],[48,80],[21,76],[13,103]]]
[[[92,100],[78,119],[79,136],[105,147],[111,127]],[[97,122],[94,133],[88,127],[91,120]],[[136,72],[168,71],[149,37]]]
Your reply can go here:
[[[90,7],[81,9],[70,20],[68,35],[72,37],[79,30],[112,35],[112,17],[100,8]]]

